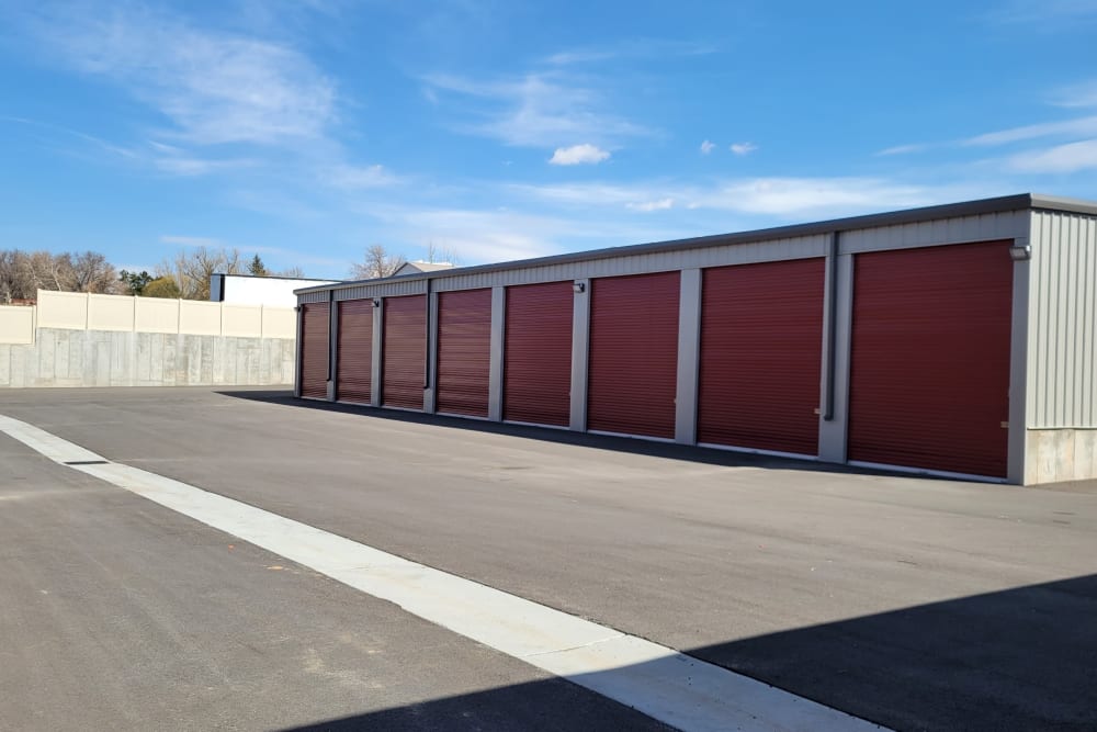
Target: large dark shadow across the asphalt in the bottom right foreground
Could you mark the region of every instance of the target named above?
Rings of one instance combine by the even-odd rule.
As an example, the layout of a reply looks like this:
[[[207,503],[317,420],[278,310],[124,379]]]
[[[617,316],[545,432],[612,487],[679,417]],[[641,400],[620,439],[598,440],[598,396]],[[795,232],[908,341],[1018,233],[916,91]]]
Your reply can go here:
[[[1092,549],[1092,548],[1090,548]],[[690,649],[730,668],[894,730],[1097,730],[1097,575]],[[654,662],[658,663],[658,662]],[[626,683],[638,667],[584,683]],[[561,679],[317,721],[319,730],[652,728]],[[593,697],[593,698],[589,698]],[[770,729],[770,728],[764,728]]]

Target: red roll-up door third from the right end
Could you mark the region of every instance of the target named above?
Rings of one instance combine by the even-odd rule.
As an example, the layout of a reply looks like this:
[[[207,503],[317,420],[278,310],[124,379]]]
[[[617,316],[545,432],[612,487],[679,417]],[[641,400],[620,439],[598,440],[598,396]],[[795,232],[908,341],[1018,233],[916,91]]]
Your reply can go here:
[[[589,429],[674,438],[680,282],[679,272],[591,282]]]

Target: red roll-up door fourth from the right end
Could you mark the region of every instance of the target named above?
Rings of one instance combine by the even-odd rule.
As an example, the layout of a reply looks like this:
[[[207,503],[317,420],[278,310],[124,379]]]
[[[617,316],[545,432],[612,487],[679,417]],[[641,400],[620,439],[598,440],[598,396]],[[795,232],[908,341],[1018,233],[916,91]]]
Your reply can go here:
[[[574,301],[570,282],[507,288],[504,419],[570,423]]]

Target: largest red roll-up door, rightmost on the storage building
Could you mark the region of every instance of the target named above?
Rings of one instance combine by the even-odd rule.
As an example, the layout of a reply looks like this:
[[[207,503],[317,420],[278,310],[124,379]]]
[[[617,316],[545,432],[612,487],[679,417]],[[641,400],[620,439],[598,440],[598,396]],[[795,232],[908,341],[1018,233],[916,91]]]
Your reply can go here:
[[[850,460],[1006,476],[1008,247],[857,255]]]

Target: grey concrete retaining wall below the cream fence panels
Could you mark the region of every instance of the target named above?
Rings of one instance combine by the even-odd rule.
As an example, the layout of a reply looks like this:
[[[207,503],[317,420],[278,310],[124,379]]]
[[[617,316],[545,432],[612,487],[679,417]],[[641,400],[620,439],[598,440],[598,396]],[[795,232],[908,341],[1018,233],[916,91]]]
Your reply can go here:
[[[282,385],[293,338],[38,328],[34,344],[0,344],[0,388]]]

